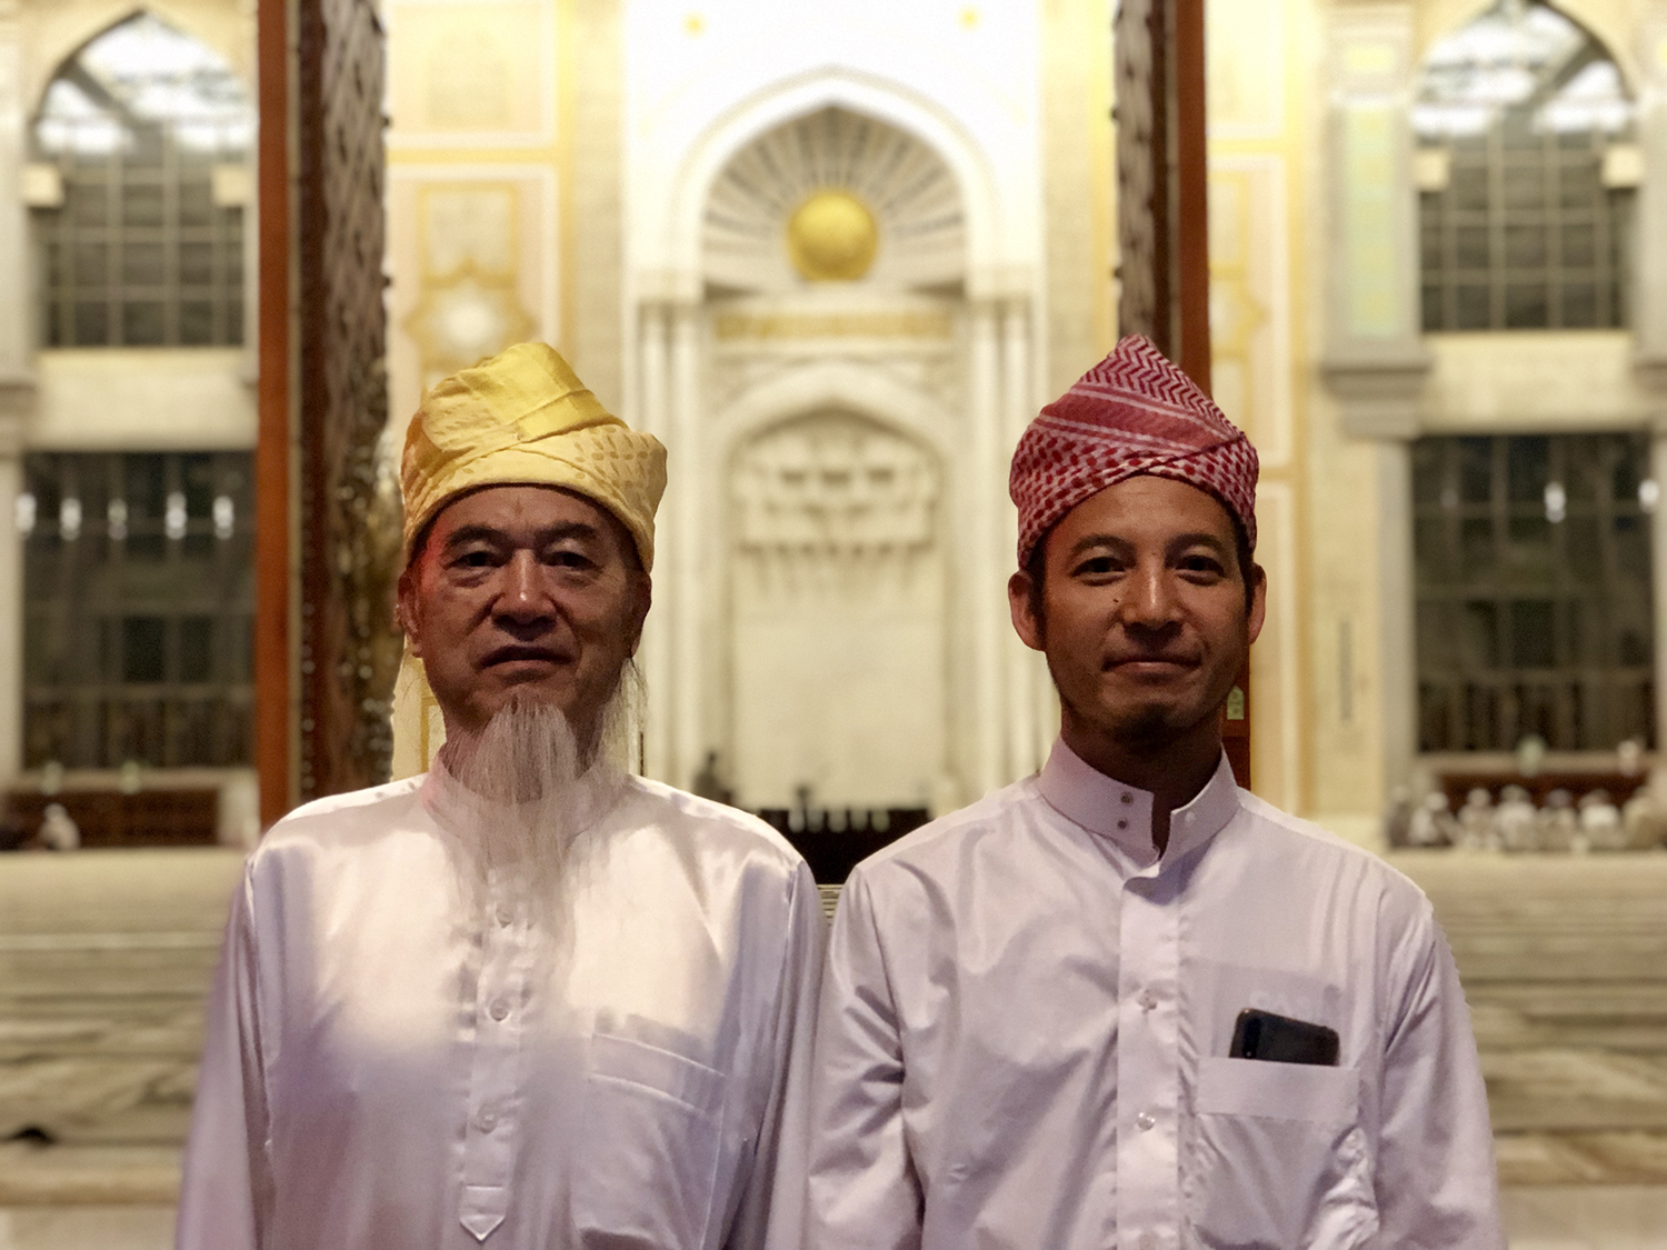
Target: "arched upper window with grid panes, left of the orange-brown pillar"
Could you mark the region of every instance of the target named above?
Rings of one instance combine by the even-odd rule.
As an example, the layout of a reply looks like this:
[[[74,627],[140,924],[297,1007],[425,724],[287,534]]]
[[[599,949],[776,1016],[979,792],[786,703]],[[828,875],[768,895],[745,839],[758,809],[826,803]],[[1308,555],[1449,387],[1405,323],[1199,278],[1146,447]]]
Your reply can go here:
[[[32,128],[42,343],[242,343],[253,133],[225,60],[148,13],[70,57]]]

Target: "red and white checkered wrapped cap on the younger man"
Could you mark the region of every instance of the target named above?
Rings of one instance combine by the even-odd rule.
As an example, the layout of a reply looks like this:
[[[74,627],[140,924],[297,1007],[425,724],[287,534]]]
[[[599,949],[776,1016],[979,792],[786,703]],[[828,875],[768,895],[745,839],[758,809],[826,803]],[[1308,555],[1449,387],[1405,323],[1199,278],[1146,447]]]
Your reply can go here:
[[[1007,478],[1019,505],[1019,567],[1060,517],[1139,473],[1210,492],[1255,550],[1255,448],[1149,338],[1129,335],[1019,440]]]

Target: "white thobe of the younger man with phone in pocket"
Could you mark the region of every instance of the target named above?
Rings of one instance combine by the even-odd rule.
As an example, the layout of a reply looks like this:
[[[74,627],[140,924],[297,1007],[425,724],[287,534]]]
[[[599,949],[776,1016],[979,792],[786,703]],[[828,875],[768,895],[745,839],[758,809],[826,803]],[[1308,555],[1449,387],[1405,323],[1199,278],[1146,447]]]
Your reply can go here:
[[[862,863],[817,1027],[810,1250],[1502,1250],[1470,1015],[1425,897],[1234,785],[1064,743]],[[1262,1008],[1337,1067],[1229,1058]]]

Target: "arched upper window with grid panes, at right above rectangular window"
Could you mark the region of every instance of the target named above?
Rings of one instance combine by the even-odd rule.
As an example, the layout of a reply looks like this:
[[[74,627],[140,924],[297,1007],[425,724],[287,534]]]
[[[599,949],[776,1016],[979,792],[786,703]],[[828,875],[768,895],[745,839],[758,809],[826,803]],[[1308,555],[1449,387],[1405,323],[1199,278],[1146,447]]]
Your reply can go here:
[[[1412,110],[1425,330],[1627,323],[1635,172],[1615,62],[1500,0],[1432,48]]]

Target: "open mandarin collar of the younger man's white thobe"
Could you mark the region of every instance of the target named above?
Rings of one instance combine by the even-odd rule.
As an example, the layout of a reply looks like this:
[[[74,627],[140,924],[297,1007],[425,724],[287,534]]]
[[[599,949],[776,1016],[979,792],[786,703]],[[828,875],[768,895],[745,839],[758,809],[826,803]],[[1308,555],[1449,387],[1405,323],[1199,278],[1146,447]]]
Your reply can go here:
[[[1159,862],[1152,843],[1150,790],[1107,777],[1085,763],[1064,738],[1054,740],[1054,750],[1037,777],[1037,788],[1049,807],[1090,833],[1117,843],[1140,867]],[[1222,762],[1204,788],[1192,802],[1170,813],[1164,860],[1175,862],[1194,847],[1202,847],[1222,832],[1237,810],[1239,785],[1227,763],[1227,752],[1222,752]]]

